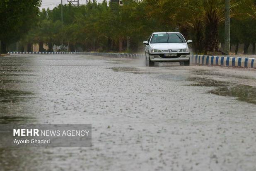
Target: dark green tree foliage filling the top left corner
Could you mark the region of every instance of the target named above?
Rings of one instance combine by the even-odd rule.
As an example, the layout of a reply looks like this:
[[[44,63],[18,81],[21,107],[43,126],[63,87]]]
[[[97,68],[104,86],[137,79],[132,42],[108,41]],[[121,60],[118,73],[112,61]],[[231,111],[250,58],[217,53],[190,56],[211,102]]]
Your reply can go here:
[[[36,25],[41,0],[1,0],[0,40],[2,44],[13,43]],[[5,51],[5,49],[2,49]]]

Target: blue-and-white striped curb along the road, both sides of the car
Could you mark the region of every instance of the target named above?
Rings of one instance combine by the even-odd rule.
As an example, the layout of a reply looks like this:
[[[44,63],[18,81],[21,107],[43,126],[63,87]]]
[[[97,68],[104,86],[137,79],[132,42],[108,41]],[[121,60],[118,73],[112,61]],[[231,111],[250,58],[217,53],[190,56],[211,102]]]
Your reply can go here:
[[[138,53],[97,53],[97,52],[8,52],[10,54],[77,54],[77,55],[96,55],[111,58],[145,58],[145,54]],[[255,58],[210,56],[210,55],[191,55],[190,63],[197,65],[218,65],[229,67],[249,67],[256,68]]]

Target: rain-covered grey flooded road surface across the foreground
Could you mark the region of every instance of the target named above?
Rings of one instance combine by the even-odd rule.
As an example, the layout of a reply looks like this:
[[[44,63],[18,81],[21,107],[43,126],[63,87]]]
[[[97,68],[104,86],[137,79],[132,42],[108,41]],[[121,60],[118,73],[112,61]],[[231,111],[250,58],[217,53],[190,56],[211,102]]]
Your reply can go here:
[[[143,62],[1,57],[1,124],[92,124],[92,147],[2,148],[0,170],[256,170],[255,69]]]

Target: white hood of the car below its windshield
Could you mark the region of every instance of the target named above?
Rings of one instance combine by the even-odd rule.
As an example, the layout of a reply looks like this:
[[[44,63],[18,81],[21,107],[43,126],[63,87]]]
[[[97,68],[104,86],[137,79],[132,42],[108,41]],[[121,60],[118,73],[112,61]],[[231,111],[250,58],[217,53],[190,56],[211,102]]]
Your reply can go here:
[[[179,50],[179,49],[186,49],[187,43],[152,43],[150,46],[153,49],[157,50]]]

